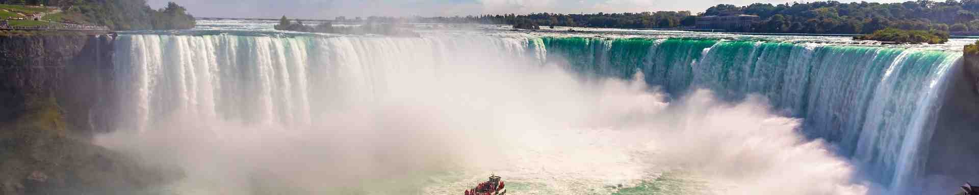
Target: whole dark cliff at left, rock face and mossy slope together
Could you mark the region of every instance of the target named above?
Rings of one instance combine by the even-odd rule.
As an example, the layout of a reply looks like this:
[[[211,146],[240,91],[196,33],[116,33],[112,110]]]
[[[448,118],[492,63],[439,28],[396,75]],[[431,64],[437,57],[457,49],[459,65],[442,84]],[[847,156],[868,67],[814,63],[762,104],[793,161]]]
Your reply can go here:
[[[113,39],[0,36],[0,195],[132,194],[166,180],[90,141],[113,129]]]

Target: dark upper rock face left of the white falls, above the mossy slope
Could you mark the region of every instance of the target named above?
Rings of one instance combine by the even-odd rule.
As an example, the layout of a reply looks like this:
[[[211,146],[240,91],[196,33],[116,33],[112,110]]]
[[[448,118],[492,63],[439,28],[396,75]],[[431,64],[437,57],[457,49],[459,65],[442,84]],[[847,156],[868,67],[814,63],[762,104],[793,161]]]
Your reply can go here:
[[[105,35],[0,36],[0,123],[23,114],[23,102],[54,97],[70,130],[112,129],[113,38]]]

